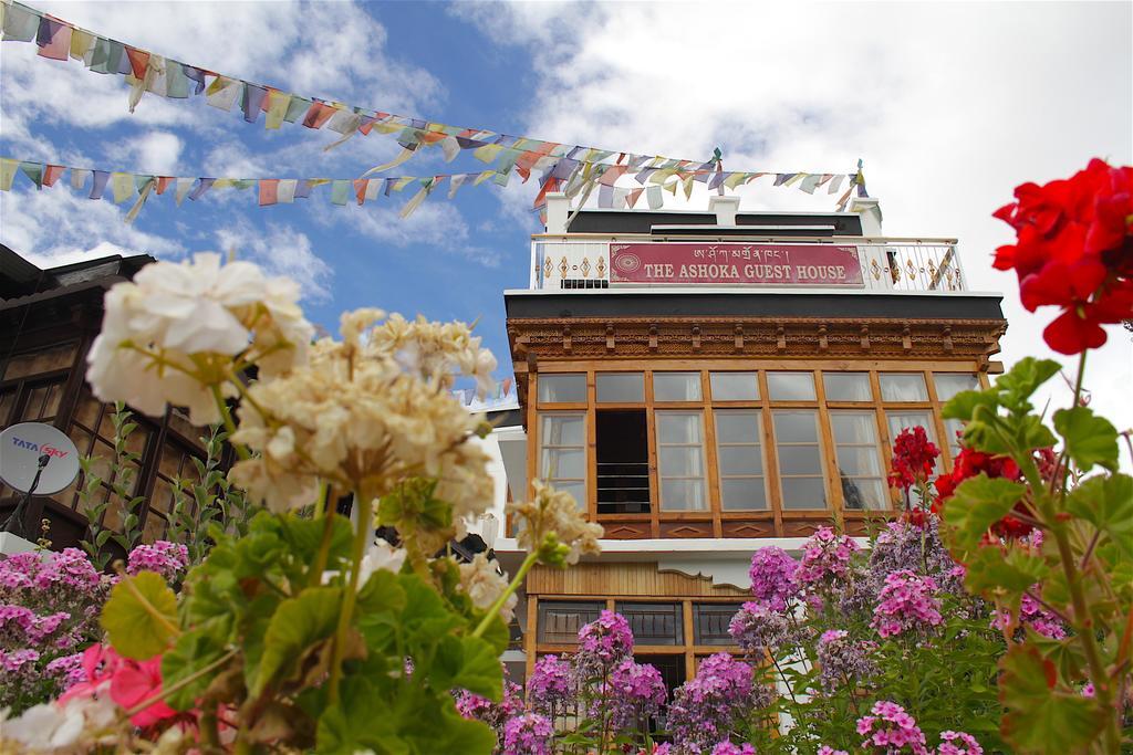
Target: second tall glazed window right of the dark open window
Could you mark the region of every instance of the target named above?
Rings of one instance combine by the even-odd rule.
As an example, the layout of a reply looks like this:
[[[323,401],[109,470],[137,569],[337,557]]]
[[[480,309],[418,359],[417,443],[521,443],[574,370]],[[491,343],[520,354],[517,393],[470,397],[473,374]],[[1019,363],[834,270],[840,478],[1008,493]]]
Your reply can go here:
[[[724,511],[766,511],[763,418],[755,409],[717,409],[716,463]]]

